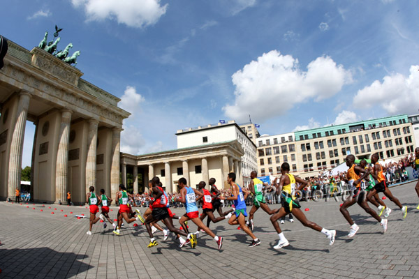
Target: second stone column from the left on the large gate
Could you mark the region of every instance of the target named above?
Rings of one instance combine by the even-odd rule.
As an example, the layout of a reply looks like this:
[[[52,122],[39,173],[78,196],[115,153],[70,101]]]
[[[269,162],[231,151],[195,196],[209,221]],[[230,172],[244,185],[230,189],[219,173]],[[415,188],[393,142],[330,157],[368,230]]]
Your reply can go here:
[[[67,199],[68,142],[70,139],[71,110],[61,110],[57,162],[55,165],[55,203],[64,203]]]

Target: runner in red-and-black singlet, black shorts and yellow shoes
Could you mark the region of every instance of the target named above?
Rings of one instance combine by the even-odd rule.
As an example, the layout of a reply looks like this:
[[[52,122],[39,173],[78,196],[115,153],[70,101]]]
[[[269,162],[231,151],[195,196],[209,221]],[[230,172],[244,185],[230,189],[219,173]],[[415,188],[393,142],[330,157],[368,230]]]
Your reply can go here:
[[[196,246],[196,236],[193,234],[186,234],[186,232],[182,232],[180,229],[177,229],[175,226],[173,226],[172,218],[169,216],[168,208],[166,207],[168,203],[168,199],[166,195],[164,195],[163,188],[159,186],[160,179],[157,176],[154,176],[152,179],[152,213],[147,216],[145,219],[145,227],[147,227],[147,232],[150,236],[150,243],[147,246],[148,248],[154,247],[159,245],[157,243],[156,239],[154,239],[153,233],[152,233],[152,227],[151,223],[164,220],[166,226],[170,230],[170,232],[175,232],[177,235],[186,236],[187,239],[191,241],[192,248],[195,248]],[[182,245],[182,239],[179,239],[181,241]]]

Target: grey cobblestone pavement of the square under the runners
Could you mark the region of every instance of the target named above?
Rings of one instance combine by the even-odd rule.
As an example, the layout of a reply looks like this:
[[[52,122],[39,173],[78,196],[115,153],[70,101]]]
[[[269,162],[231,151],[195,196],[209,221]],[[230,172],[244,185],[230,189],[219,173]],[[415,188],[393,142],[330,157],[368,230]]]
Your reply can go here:
[[[419,278],[419,199],[414,186],[391,188],[409,210],[403,220],[397,206],[385,199],[393,209],[385,234],[372,217],[352,206],[349,212],[360,225],[353,239],[346,236],[349,225],[339,212],[340,198],[301,202],[302,209],[309,209],[304,211],[309,220],[337,230],[335,245],[287,218],[281,228],[291,245],[281,250],[272,248],[278,236],[261,210],[255,215],[261,245],[249,248],[251,239],[222,221],[210,226],[224,238],[219,252],[210,236],[200,236],[195,249],[181,249],[175,240],[163,241],[161,232],[156,234],[159,246],[147,248],[145,227],[133,223],[120,236],[112,234],[109,224],[103,229],[96,223],[89,236],[88,218],[74,217],[89,216],[85,206],[0,202],[0,278]],[[116,207],[111,209],[113,219]],[[174,212],[181,215],[184,209]],[[195,232],[196,226],[189,225]]]

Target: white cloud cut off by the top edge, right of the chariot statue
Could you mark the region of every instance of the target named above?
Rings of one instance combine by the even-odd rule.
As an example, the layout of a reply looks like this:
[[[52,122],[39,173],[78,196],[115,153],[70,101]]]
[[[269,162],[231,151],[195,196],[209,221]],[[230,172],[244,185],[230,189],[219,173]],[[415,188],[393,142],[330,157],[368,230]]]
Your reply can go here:
[[[87,20],[116,19],[128,27],[146,27],[159,21],[166,13],[168,4],[160,0],[71,0],[73,6],[84,8]]]

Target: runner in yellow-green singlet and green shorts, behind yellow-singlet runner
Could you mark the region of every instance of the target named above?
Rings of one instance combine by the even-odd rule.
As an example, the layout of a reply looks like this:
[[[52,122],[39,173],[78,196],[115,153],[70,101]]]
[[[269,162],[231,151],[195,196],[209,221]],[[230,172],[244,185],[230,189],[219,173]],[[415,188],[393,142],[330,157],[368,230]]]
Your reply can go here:
[[[253,206],[251,206],[249,212],[249,220],[247,221],[246,225],[250,225],[250,229],[253,231],[253,214],[258,211],[259,207],[263,209],[268,215],[272,215],[277,213],[279,209],[270,209],[269,206],[266,204],[265,196],[263,195],[263,190],[265,190],[265,186],[269,186],[267,183],[263,183],[260,179],[258,179],[258,173],[253,170],[250,173],[250,185],[249,190],[253,194]],[[274,183],[276,183],[277,179],[275,179]]]

